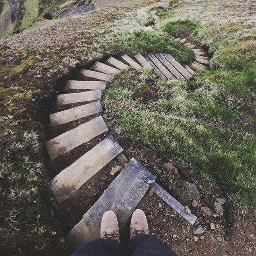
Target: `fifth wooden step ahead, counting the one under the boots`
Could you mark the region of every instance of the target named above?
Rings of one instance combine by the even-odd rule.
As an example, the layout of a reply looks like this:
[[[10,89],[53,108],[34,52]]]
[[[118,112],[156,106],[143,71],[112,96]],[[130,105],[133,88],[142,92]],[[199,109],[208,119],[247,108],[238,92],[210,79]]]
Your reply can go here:
[[[101,90],[90,90],[85,92],[59,94],[57,95],[57,105],[67,105],[79,102],[96,101],[102,98]]]

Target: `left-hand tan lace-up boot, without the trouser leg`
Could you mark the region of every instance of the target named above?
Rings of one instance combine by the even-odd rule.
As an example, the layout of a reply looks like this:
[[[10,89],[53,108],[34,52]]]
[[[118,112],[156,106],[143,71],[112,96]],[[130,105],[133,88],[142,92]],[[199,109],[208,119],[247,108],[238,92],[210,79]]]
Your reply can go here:
[[[113,211],[106,211],[102,216],[101,238],[113,239],[120,243],[117,216]]]

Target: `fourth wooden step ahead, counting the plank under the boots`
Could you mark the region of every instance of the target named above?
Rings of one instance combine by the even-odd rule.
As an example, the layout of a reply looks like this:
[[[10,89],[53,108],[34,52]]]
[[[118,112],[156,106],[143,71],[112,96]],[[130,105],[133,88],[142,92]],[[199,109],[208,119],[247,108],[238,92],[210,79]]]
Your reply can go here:
[[[60,124],[66,124],[100,112],[102,112],[102,105],[100,102],[92,102],[72,109],[60,111],[50,115],[51,126],[54,127]]]

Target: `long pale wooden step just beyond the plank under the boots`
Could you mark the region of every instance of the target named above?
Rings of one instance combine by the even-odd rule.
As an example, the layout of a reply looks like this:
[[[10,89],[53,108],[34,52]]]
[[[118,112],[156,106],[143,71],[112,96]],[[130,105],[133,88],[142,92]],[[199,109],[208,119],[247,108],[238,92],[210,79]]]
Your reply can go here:
[[[56,200],[63,202],[122,151],[112,136],[98,143],[49,181],[49,187]]]

